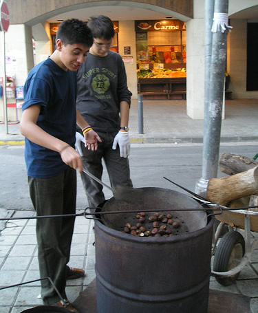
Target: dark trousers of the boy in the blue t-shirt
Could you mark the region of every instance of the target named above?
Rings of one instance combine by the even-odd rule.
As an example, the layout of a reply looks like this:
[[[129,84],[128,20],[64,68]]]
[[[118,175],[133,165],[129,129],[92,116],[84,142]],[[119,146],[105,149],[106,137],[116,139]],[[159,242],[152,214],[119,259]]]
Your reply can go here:
[[[76,212],[76,171],[68,168],[50,178],[28,177],[30,197],[36,215],[65,215]],[[66,299],[65,271],[69,262],[75,217],[36,219],[36,239],[39,250],[40,276],[50,277]],[[60,301],[47,279],[41,281],[43,303]]]

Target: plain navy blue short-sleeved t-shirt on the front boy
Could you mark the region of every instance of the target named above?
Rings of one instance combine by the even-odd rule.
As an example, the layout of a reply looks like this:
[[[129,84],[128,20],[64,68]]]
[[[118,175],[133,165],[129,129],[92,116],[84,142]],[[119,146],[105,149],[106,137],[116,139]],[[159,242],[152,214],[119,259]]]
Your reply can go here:
[[[36,65],[24,88],[23,111],[40,105],[36,125],[74,147],[76,132],[76,73],[64,71],[50,58]],[[61,155],[25,138],[25,163],[30,177],[46,178],[67,168]]]

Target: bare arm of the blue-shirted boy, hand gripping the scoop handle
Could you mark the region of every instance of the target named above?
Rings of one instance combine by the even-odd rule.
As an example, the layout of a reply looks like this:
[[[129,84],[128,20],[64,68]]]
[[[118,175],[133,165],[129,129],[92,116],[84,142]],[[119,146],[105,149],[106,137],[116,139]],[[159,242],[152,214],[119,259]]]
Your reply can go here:
[[[83,163],[78,152],[66,142],[51,136],[36,125],[41,107],[32,105],[23,111],[20,122],[21,134],[35,144],[60,153],[65,164],[83,172]]]

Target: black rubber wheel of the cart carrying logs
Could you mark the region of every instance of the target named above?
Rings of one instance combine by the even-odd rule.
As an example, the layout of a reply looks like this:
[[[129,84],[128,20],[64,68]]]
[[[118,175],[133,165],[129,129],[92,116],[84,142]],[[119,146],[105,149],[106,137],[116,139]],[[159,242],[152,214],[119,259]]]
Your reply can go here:
[[[237,231],[230,231],[219,241],[215,252],[213,270],[227,272],[235,268],[244,257],[244,237]],[[218,283],[224,286],[232,285],[239,277],[240,272],[230,277],[215,276]]]

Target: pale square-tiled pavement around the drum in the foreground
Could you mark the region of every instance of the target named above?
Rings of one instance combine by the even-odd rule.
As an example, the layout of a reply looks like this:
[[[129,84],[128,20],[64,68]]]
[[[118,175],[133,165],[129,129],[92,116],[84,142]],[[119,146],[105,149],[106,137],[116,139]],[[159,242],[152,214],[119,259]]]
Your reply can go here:
[[[32,211],[18,211],[15,214],[33,215]],[[35,224],[36,219],[16,219],[8,222],[1,232],[0,287],[39,279]],[[83,279],[67,281],[69,301],[74,301],[95,278],[93,225],[94,222],[83,216],[76,217],[69,265],[83,268],[87,274]],[[256,233],[252,235],[258,237]],[[252,254],[250,263],[241,271],[235,284],[224,287],[211,277],[210,288],[249,296],[252,298],[251,312],[258,313],[258,249]],[[30,307],[42,305],[39,294],[39,281],[0,290],[0,313],[20,313]]]

